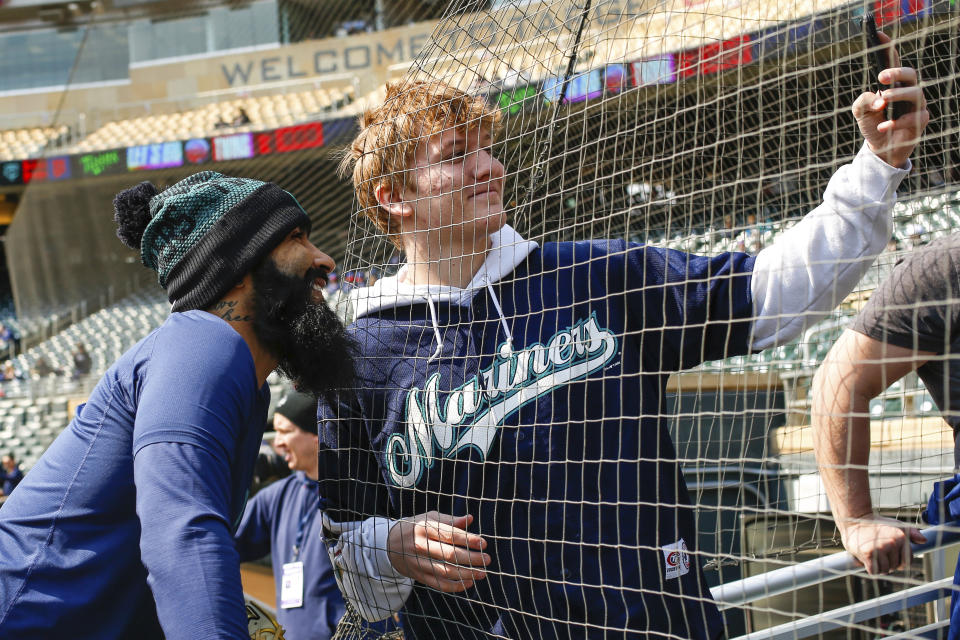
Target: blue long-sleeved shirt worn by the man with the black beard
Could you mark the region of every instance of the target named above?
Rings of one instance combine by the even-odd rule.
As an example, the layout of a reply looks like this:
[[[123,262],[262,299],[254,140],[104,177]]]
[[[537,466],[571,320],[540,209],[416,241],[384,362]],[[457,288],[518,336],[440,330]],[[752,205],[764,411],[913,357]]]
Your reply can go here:
[[[247,638],[233,531],[269,395],[203,311],[121,356],[0,511],[0,636]]]

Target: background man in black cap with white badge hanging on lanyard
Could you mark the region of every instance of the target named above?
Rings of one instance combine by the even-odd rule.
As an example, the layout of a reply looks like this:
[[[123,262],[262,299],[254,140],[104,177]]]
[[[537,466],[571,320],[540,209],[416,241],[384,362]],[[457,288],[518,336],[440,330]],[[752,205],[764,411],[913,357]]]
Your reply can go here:
[[[287,391],[273,428],[273,447],[294,474],[247,502],[234,538],[242,562],[270,554],[284,637],[326,640],[346,605],[320,535],[316,398]]]

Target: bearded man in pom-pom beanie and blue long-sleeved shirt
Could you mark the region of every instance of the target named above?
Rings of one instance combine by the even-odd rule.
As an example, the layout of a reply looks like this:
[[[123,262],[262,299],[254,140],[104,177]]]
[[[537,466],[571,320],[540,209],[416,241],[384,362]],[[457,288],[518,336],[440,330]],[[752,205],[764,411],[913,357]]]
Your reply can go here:
[[[334,397],[333,261],[280,187],[202,172],[114,201],[173,313],[121,356],[0,511],[4,637],[248,638],[233,531],[274,369]]]

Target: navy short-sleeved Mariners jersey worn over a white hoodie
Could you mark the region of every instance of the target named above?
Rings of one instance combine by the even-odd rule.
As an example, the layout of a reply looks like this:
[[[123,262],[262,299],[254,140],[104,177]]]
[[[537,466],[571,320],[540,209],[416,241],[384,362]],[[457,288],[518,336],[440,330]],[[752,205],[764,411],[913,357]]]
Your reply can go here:
[[[664,414],[668,376],[748,350],[754,259],[552,243],[468,305],[360,317],[356,397],[321,405],[342,519],[475,516],[487,578],[417,584],[411,638],[709,638],[721,619]],[[506,322],[511,340],[502,326]]]

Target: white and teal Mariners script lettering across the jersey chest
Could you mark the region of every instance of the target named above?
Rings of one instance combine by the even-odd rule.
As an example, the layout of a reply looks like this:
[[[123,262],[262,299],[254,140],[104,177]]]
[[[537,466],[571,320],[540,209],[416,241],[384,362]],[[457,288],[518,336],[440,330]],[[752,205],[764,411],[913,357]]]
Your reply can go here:
[[[596,314],[557,332],[546,344],[511,352],[506,343],[493,363],[440,400],[440,374],[407,394],[406,427],[387,440],[390,478],[412,487],[438,457],[475,447],[486,459],[503,420],[528,402],[602,369],[617,338]],[[465,426],[466,425],[466,426]]]

